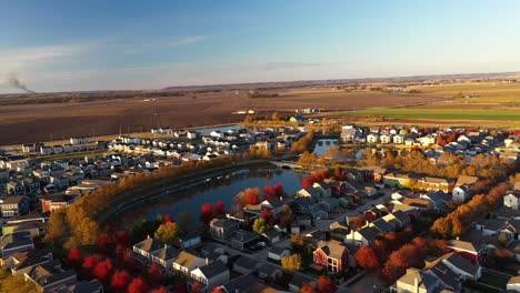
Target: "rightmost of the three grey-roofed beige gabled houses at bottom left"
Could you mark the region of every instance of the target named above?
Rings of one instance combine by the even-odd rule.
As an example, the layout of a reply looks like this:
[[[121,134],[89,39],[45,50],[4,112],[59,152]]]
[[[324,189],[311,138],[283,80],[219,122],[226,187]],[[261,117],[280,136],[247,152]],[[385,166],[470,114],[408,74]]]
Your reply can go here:
[[[200,292],[211,292],[214,287],[229,282],[229,269],[222,261],[214,261],[193,270],[190,279],[191,282],[201,284]]]

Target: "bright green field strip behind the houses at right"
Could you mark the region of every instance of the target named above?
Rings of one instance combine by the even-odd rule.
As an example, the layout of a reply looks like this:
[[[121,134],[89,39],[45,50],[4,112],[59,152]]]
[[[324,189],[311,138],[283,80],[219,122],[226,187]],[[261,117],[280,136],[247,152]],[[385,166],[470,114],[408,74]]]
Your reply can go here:
[[[520,121],[520,111],[499,109],[367,109],[344,113],[359,117],[439,120],[509,120]]]

